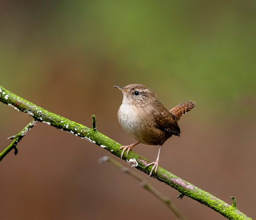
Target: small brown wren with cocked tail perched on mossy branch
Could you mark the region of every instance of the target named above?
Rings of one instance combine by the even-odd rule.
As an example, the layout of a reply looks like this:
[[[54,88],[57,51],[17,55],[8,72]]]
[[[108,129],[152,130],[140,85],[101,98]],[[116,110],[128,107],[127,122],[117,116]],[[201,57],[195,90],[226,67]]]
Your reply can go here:
[[[164,142],[172,135],[180,136],[178,120],[195,107],[195,102],[183,102],[168,111],[157,95],[146,86],[131,84],[125,87],[114,86],[122,91],[122,105],[118,110],[118,120],[122,129],[133,136],[138,142],[121,146],[121,158],[127,150],[127,155],[137,144],[159,145],[157,160],[147,164],[153,165],[157,172],[159,155]]]

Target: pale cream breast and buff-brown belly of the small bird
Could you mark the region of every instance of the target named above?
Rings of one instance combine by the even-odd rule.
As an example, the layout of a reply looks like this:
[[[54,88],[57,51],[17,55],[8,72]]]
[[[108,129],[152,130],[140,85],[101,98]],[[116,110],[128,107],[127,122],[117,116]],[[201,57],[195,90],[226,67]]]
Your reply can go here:
[[[143,144],[159,145],[166,141],[164,132],[154,126],[152,112],[148,108],[122,104],[118,120],[122,129]]]

